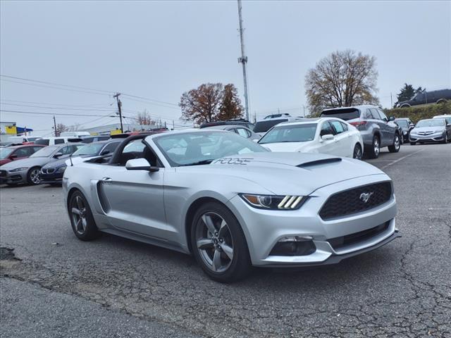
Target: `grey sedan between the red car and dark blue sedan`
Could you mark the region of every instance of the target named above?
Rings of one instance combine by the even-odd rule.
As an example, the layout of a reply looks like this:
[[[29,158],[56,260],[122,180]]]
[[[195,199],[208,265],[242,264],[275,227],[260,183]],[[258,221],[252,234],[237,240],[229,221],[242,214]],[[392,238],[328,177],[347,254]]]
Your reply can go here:
[[[16,185],[19,183],[39,184],[39,172],[43,165],[58,158],[67,158],[84,144],[57,144],[54,146],[44,146],[29,158],[12,161],[1,165],[0,183]]]

